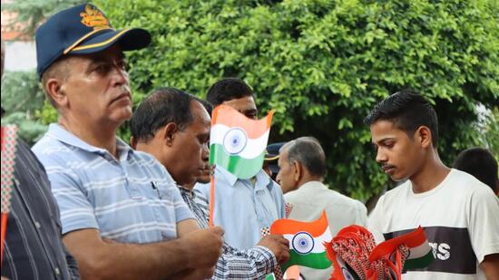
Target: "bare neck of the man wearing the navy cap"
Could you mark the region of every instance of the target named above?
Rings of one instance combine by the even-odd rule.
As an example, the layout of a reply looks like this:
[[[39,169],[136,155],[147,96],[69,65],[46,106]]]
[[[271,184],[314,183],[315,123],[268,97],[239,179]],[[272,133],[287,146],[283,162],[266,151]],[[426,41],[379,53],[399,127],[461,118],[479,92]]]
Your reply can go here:
[[[86,143],[109,151],[114,158],[118,158],[116,149],[116,130],[119,126],[91,124],[78,121],[74,118],[59,118],[59,125],[73,133],[74,136]]]

